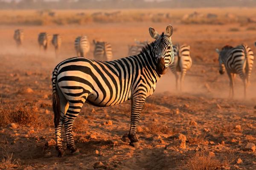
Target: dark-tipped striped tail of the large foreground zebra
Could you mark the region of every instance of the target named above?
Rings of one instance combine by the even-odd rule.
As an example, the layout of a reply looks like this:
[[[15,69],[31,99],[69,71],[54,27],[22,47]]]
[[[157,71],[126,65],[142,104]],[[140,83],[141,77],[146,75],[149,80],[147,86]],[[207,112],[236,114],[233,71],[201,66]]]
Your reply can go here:
[[[58,69],[55,68],[52,73],[52,109],[54,113],[54,125],[55,127],[58,126],[59,120],[60,120],[60,114],[61,114],[61,105],[60,105],[60,99],[58,96],[58,92],[56,89],[57,86],[57,73]]]

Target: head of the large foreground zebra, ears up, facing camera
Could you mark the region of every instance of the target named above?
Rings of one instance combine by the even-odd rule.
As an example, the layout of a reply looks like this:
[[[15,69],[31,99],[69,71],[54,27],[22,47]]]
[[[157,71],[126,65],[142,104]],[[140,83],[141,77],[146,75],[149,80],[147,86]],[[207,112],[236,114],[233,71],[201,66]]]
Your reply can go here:
[[[174,62],[174,52],[172,48],[171,36],[172,26],[166,27],[166,34],[159,35],[154,28],[149,28],[149,34],[155,39],[153,43],[153,54],[157,60],[156,70],[158,74],[165,74],[169,65]]]

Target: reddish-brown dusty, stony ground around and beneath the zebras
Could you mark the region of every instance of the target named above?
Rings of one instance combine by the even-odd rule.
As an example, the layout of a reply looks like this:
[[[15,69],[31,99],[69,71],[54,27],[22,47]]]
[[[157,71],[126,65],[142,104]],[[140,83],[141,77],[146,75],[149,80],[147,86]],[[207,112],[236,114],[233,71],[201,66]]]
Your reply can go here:
[[[175,78],[169,71],[158,83],[157,92],[147,99],[139,123],[138,149],[130,147],[127,139],[122,138],[129,130],[130,102],[109,108],[84,105],[74,127],[81,152],[78,156],[67,153],[58,158],[53,146],[44,146],[48,140],[55,139],[51,72],[58,62],[75,56],[73,40],[76,36],[85,34],[91,41],[101,38],[111,42],[117,59],[127,55],[128,44],[133,43],[134,38],[151,40],[149,26],[161,32],[168,24],[22,26],[25,42],[19,49],[12,40],[17,26],[0,26],[0,111],[19,113],[27,108],[32,112],[31,122],[17,123],[17,128],[10,127],[11,122],[0,125],[0,169],[5,166],[93,169],[95,162],[102,161],[105,169],[187,170],[192,169],[191,164],[206,164],[204,159],[222,169],[256,169],[256,153],[244,150],[247,143],[256,143],[256,68],[253,68],[247,99],[243,99],[239,77],[235,99],[228,99],[228,78],[226,74],[218,74],[215,53],[215,48],[241,42],[256,52],[253,46],[256,31],[236,24],[173,25],[172,41],[191,45],[193,65],[185,78],[183,93],[175,90]],[[235,27],[239,27],[239,31],[229,31]],[[59,58],[55,58],[52,46],[47,52],[39,50],[37,35],[41,31],[62,35]],[[92,57],[92,51],[93,47],[88,57]],[[102,125],[108,120],[113,125]],[[173,139],[177,133],[186,136],[186,148],[180,148],[179,141]],[[8,162],[10,157],[12,161]],[[238,158],[242,163],[237,164]]]

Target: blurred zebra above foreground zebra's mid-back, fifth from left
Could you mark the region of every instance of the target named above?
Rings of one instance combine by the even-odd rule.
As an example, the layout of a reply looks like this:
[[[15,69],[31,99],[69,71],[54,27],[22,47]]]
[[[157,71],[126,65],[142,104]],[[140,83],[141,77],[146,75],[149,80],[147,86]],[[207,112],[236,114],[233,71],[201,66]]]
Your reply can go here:
[[[94,52],[93,57],[94,59],[100,61],[110,61],[113,58],[111,44],[104,41],[95,41],[93,40]]]

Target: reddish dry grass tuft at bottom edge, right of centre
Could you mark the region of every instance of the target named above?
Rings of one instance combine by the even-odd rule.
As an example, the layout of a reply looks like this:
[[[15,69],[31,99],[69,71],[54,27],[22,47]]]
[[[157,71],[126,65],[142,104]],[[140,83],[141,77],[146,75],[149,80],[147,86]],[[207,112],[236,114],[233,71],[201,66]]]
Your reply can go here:
[[[206,154],[196,154],[187,161],[189,170],[217,170],[222,163],[212,156]]]

